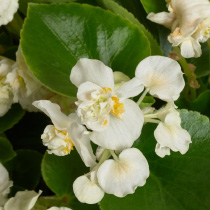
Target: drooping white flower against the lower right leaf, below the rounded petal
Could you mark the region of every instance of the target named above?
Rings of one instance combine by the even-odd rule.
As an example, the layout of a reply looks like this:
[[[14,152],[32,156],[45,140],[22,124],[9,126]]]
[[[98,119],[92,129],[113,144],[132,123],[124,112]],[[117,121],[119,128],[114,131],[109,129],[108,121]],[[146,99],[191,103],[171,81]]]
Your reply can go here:
[[[164,108],[160,111],[159,118],[162,122],[158,124],[154,132],[158,142],[155,152],[160,157],[170,155],[170,149],[185,154],[191,143],[190,134],[181,127],[179,112],[173,106],[169,107],[166,107],[169,110],[168,113],[164,113]]]

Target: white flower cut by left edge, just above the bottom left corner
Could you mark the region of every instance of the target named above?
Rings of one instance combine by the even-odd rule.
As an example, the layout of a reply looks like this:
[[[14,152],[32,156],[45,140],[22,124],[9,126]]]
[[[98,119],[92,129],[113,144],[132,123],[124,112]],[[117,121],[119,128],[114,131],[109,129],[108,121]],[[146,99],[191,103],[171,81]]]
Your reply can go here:
[[[7,201],[7,195],[10,192],[10,187],[13,185],[9,181],[9,174],[6,168],[0,163],[0,206],[3,206]]]

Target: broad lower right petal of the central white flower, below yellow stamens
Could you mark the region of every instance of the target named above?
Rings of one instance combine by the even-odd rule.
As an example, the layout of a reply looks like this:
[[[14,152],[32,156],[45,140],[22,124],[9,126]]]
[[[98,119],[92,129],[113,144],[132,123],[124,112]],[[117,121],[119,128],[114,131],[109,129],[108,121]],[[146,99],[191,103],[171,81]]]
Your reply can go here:
[[[97,145],[112,150],[131,147],[140,136],[144,116],[139,106],[130,99],[124,101],[123,119],[110,115],[109,127],[101,132],[93,131],[90,139]]]

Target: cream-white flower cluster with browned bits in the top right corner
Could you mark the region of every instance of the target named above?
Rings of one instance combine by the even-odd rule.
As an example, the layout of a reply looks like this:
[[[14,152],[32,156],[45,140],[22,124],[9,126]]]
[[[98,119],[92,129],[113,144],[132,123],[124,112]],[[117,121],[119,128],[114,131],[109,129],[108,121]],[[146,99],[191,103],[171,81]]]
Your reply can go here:
[[[168,40],[173,46],[180,46],[185,58],[202,54],[199,42],[210,38],[209,0],[166,0],[168,11],[150,13],[147,18],[171,30]]]

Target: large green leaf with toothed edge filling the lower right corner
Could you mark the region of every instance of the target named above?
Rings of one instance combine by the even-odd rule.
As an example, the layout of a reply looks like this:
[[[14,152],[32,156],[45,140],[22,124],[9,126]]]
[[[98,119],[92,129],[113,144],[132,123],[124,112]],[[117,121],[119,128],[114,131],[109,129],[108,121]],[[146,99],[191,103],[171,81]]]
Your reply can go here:
[[[192,144],[185,155],[172,152],[165,158],[154,150],[156,125],[146,124],[135,146],[146,156],[150,177],[132,195],[117,198],[106,195],[102,210],[207,210],[210,206],[210,123],[197,112],[182,110],[182,127],[190,133]]]

